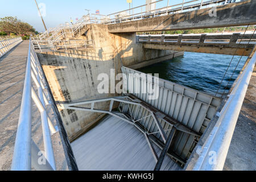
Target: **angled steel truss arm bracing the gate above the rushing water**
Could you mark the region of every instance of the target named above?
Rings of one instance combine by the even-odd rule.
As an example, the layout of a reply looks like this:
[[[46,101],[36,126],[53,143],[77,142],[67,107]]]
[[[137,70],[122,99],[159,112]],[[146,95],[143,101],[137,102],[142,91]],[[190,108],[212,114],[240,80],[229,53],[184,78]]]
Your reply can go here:
[[[98,102],[108,102],[109,101],[109,109],[108,110],[100,110],[100,109],[94,109],[94,104]],[[123,111],[123,108],[120,107],[119,105],[119,110],[120,111],[114,111],[113,110],[113,105],[114,102],[119,102],[121,104],[124,104],[127,106],[127,111]],[[81,105],[90,105],[90,107],[84,107]],[[137,105],[141,106],[144,109],[149,111],[149,114],[144,116],[143,118],[135,119],[133,118],[131,114],[131,109],[130,105]],[[155,109],[154,107],[148,105],[146,102],[139,100],[137,97],[131,94],[125,94],[123,96],[117,96],[117,97],[109,97],[109,98],[102,98],[98,100],[90,100],[90,101],[82,101],[82,102],[73,102],[69,104],[59,104],[61,109],[72,109],[72,110],[81,110],[81,111],[91,111],[95,113],[105,113],[105,114],[110,114],[113,115],[114,117],[117,117],[119,119],[122,119],[122,121],[125,121],[133,126],[135,126],[139,131],[141,131],[148,143],[148,146],[150,147],[150,150],[152,152],[152,155],[154,157],[154,160],[156,162],[155,170],[159,171],[160,167],[162,166],[164,156],[168,155],[172,159],[179,161],[181,164],[185,164],[185,161],[181,159],[179,156],[175,154],[171,154],[168,152],[168,149],[171,145],[172,139],[174,138],[175,132],[181,131],[184,133],[188,133],[191,135],[195,135],[195,137],[200,137],[201,134],[197,133],[196,131],[193,131],[192,129],[189,129],[189,127],[183,125],[179,121],[176,121],[174,118],[168,117],[166,114],[162,113],[161,111]],[[138,109],[138,107],[137,107]],[[129,113],[128,113],[129,111]],[[160,133],[163,143],[161,141],[158,141],[159,139],[154,138],[155,133],[149,133],[148,130],[144,126],[142,126],[138,121],[141,119],[147,118],[147,117],[152,117],[155,121],[156,126],[158,127],[158,132],[155,133]],[[158,118],[163,119],[164,122],[168,123],[169,125],[172,125],[170,135],[167,137],[166,133],[160,125],[160,122]],[[151,137],[152,136],[152,137]],[[159,148],[162,149],[162,152],[158,156],[158,154],[155,151],[155,148],[153,144],[156,144]],[[162,143],[162,144],[159,144]]]

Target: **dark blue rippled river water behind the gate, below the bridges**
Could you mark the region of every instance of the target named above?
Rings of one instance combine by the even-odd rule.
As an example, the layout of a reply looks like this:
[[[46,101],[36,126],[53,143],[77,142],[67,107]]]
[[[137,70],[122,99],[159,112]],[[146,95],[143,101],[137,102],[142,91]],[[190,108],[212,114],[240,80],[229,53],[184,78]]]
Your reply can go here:
[[[232,57],[232,55],[184,52],[183,56],[152,64],[148,67],[138,69],[138,71],[144,73],[159,73],[159,77],[164,80],[215,95]],[[217,96],[221,96],[222,93],[228,93],[228,90],[240,73],[243,64],[245,64],[246,58],[247,56],[233,57]],[[240,63],[236,68],[239,60]],[[235,68],[236,71],[234,72]],[[230,80],[233,72],[234,75]],[[226,86],[227,84],[228,86]]]

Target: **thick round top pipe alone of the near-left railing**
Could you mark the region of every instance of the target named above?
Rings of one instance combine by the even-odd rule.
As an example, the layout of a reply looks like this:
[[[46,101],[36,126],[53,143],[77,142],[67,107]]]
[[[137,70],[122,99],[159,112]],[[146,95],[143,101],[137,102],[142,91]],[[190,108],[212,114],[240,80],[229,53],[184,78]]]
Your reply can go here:
[[[27,68],[20,106],[11,170],[31,170],[31,42],[28,46]]]

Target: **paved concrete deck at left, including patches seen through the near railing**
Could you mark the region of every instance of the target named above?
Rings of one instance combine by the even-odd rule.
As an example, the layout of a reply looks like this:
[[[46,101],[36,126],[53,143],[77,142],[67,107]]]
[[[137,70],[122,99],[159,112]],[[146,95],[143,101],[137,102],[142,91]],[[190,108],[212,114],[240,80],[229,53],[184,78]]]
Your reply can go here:
[[[11,169],[26,73],[28,43],[23,41],[0,58],[0,171]],[[50,107],[48,111],[49,117],[53,117]],[[40,150],[43,150],[40,113],[35,105],[32,107],[32,138]],[[67,163],[59,141],[59,133],[52,135],[53,150],[56,151],[56,168],[65,170],[68,169]]]

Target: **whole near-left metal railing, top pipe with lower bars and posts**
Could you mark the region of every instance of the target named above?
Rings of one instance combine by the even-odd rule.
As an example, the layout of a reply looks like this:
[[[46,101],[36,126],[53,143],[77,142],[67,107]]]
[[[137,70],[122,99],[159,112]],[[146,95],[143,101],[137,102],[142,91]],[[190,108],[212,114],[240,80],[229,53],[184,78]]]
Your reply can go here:
[[[52,148],[51,133],[56,133],[57,130],[55,129],[55,126],[53,125],[53,122],[49,118],[46,111],[46,105],[49,104],[49,101],[47,100],[46,94],[43,91],[43,69],[39,63],[35,49],[31,46],[31,44],[30,39],[22,103],[20,106],[19,122],[11,169],[15,171],[31,170],[32,163],[32,166],[36,170],[55,170],[56,167]],[[32,81],[34,81],[37,87],[37,92],[32,86]],[[47,90],[48,89],[49,88],[47,88]],[[40,150],[31,138],[32,100],[35,102],[35,105],[38,107],[41,114],[45,151],[44,157],[46,158],[46,164],[38,163],[38,152]]]

